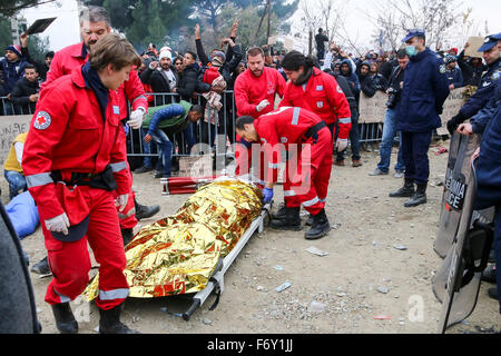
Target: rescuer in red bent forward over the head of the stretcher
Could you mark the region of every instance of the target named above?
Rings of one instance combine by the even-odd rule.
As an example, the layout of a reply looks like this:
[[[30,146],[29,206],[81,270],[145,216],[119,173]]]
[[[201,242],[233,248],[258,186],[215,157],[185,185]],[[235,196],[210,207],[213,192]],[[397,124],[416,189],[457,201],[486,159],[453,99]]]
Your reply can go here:
[[[273,220],[277,229],[301,230],[299,209],[303,206],[313,216],[312,228],[306,239],[318,239],[331,230],[325,214],[328,180],[332,170],[332,134],[316,113],[302,108],[283,107],[257,119],[240,117],[236,121],[237,134],[249,142],[259,142],[265,154],[266,186],[264,202],[272,201],[273,186],[277,178],[281,152],[287,151],[289,165],[295,167],[291,175],[284,218]],[[253,149],[256,149],[253,145]],[[297,152],[292,155],[292,152]]]

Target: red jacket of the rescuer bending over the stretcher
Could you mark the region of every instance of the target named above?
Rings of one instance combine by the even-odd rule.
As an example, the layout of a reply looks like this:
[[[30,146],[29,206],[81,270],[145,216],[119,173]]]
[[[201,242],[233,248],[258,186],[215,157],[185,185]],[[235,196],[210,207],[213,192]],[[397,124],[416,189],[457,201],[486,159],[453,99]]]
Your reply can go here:
[[[322,119],[314,112],[303,108],[283,107],[267,115],[261,116],[254,121],[254,127],[259,136],[261,144],[265,146],[268,161],[268,169],[273,169],[274,181],[277,179],[277,172],[281,158],[281,145],[289,151],[291,145],[297,145],[297,151],[301,145],[306,141],[305,135],[308,129]],[[267,147],[266,147],[267,146]]]

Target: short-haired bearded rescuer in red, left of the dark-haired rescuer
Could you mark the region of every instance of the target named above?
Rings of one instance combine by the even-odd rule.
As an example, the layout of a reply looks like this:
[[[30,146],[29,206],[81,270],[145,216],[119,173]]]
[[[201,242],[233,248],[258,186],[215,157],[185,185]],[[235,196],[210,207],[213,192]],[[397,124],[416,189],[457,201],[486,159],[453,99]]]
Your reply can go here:
[[[257,119],[275,109],[276,95],[281,98],[284,96],[286,83],[276,69],[265,67],[265,55],[258,47],[247,51],[247,66],[248,69],[235,81],[235,105],[238,117],[250,116]],[[240,149],[235,152],[236,175],[240,176],[249,172],[252,150],[250,144],[245,139],[237,137],[237,141],[247,148],[247,155],[240,155]],[[247,156],[247,159],[244,156]]]

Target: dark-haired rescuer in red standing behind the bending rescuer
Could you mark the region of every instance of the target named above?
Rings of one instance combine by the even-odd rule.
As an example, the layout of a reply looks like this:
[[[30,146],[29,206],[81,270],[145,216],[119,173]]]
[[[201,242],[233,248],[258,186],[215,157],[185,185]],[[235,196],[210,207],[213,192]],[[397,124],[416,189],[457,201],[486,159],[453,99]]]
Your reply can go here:
[[[281,66],[287,78],[291,80],[287,82],[281,107],[299,107],[315,112],[322,120],[325,121],[331,130],[333,145],[335,137],[335,125],[337,122],[340,127],[340,135],[335,147],[338,151],[344,150],[347,146],[352,120],[350,105],[335,78],[315,68],[311,57],[305,57],[297,51],[292,51],[285,55]],[[291,186],[287,172],[288,167],[285,169],[285,191],[288,190]],[[331,177],[327,179],[330,178]],[[325,196],[318,196],[318,198],[324,202],[327,199],[326,194],[327,191],[325,190]],[[289,197],[284,196],[284,200],[287,201],[287,199],[289,199]],[[282,219],[284,216],[285,205],[274,217],[276,219]],[[312,222],[313,217],[310,216],[306,225],[311,226]]]

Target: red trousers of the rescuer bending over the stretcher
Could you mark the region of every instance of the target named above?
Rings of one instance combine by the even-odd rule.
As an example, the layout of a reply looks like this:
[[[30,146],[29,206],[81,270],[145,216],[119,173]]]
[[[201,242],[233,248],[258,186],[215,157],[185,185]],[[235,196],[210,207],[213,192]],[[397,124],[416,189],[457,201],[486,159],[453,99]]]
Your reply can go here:
[[[331,131],[323,128],[316,139],[311,138],[303,145],[298,155],[288,154],[284,181],[285,204],[288,208],[303,205],[306,211],[317,215],[325,207],[331,180]]]

